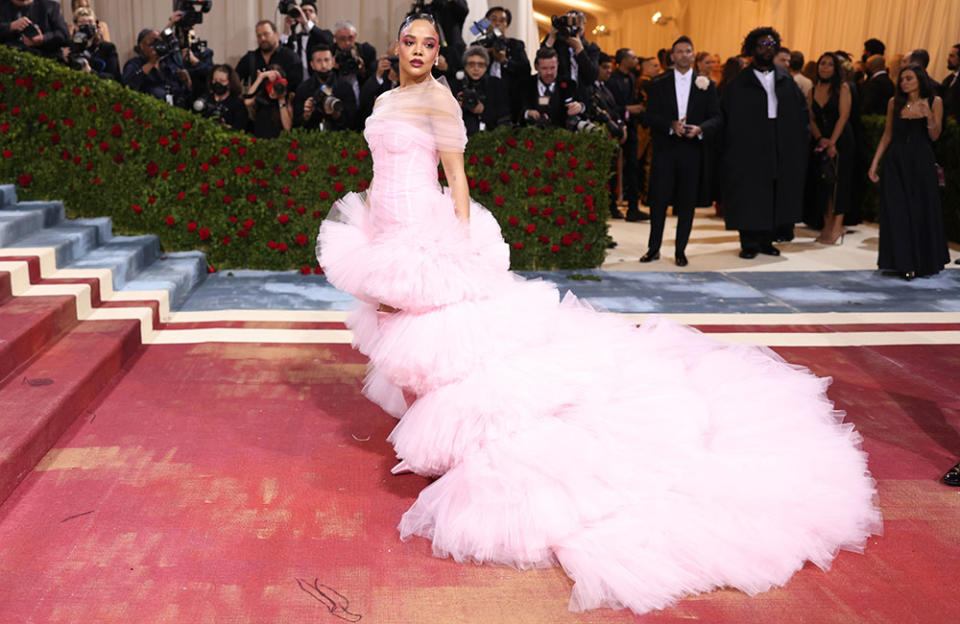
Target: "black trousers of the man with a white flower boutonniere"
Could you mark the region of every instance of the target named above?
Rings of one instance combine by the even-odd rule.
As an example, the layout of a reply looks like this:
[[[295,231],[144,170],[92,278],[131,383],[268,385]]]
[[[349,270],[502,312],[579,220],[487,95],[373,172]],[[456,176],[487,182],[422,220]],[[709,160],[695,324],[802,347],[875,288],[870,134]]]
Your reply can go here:
[[[674,140],[666,149],[654,148],[650,168],[650,239],[647,241],[651,252],[660,251],[668,204],[673,205],[673,213],[677,215],[675,253],[686,250],[693,229],[702,153],[700,143],[689,139]]]

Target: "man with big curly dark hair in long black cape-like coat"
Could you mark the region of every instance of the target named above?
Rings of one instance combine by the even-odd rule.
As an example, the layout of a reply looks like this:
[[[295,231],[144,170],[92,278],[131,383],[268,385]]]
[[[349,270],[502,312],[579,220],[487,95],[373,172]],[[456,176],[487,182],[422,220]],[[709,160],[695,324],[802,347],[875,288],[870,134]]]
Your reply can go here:
[[[740,257],[779,256],[778,226],[803,215],[803,188],[810,149],[807,99],[786,70],[775,67],[780,34],[756,28],[743,42],[753,62],[723,92],[723,217],[740,231]]]

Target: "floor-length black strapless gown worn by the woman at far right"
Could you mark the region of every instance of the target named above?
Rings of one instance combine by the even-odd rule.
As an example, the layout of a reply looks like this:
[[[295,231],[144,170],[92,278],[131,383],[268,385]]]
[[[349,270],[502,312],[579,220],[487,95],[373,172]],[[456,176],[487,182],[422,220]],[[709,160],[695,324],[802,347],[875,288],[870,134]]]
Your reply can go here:
[[[950,262],[927,121],[894,117],[880,173],[882,271],[939,273]]]

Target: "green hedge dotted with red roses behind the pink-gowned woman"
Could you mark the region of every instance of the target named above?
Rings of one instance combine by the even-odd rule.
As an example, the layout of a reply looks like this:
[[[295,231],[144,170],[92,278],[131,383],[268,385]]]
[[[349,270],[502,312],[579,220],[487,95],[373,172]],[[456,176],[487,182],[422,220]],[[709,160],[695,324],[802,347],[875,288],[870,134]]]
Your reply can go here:
[[[372,162],[355,132],[295,130],[256,140],[192,113],[0,46],[0,180],[21,199],[62,200],[71,217],[110,216],[212,267],[315,270],[314,240]],[[596,134],[500,128],[465,154],[514,269],[598,266],[609,241],[615,146]]]

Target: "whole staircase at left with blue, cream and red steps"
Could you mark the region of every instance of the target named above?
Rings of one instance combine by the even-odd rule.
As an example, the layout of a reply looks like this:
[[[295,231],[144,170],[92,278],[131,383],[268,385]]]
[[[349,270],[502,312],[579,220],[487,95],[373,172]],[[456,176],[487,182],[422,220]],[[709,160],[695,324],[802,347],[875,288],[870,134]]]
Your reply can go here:
[[[113,236],[0,185],[0,503],[206,277],[200,252]],[[162,389],[161,389],[162,391]]]

